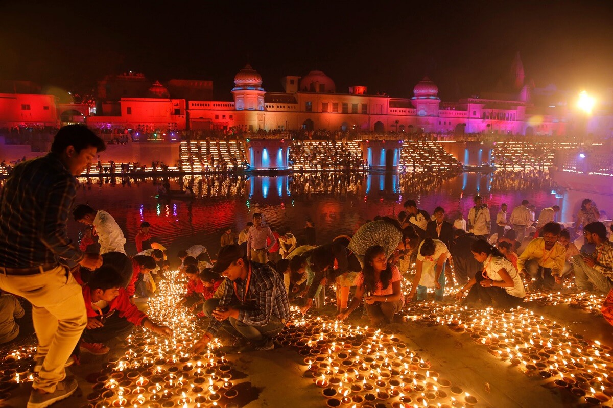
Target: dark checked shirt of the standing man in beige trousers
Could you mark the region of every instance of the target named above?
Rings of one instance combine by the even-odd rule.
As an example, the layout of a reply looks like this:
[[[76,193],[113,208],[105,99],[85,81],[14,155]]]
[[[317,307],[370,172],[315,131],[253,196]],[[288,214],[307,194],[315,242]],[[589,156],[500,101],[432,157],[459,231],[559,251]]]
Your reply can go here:
[[[57,154],[15,167],[0,193],[0,266],[82,260],[83,252],[67,233],[76,194],[77,180]]]

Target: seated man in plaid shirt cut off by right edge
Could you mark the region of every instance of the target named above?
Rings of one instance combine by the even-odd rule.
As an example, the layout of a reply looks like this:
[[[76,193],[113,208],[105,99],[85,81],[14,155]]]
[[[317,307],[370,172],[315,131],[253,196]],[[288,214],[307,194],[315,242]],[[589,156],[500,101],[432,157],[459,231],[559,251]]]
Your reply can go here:
[[[592,290],[592,282],[598,290],[609,292],[613,289],[613,243],[607,240],[607,228],[602,222],[590,222],[584,227],[584,236],[596,249],[590,257],[573,257],[577,288]]]

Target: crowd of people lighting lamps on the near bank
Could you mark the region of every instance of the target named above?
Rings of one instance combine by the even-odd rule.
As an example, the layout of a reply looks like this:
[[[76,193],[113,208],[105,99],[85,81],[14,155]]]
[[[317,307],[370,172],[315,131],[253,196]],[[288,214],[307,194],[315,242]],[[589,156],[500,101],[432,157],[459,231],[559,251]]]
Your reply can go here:
[[[578,290],[613,289],[611,235],[590,199],[570,230],[555,221],[555,205],[538,217],[527,200],[510,217],[502,205],[492,224],[479,195],[466,219],[458,213],[454,220],[440,206],[431,216],[406,200],[397,217],[377,216],[329,242],[318,240],[311,219],[297,236],[275,230],[255,213],[237,236],[227,227],[213,256],[194,244],[173,257],[152,240],[151,225],[143,221],[137,253],[129,256],[112,214],[74,206],[74,176],[104,149],[86,127],[63,127],[51,152],[17,165],[0,195],[0,289],[10,293],[1,299],[7,304],[3,319],[10,316],[2,320],[9,324],[0,328],[9,330],[0,339],[18,333],[13,322],[23,311],[17,297],[32,305],[38,340],[32,368],[38,375],[28,408],[45,408],[74,393],[77,382],[66,377],[65,368],[75,355],[104,355],[110,351],[106,343],[135,326],[172,336],[135,299],[155,296],[171,262],[179,260],[185,295],[175,307],[188,308],[207,325],[194,339],[194,353],[220,336],[229,336],[229,346],[272,350],[289,322],[290,305],[302,313],[324,312],[330,287],[337,320],[366,319],[376,327],[394,322],[406,303],[426,300],[429,292],[437,302],[453,295],[466,307],[508,309],[524,303],[531,291],[563,290],[573,277]],[[85,225],[79,244],[67,233],[69,216]],[[577,234],[584,241],[571,242]],[[458,290],[449,293],[446,287]],[[356,315],[362,301],[362,314]]]

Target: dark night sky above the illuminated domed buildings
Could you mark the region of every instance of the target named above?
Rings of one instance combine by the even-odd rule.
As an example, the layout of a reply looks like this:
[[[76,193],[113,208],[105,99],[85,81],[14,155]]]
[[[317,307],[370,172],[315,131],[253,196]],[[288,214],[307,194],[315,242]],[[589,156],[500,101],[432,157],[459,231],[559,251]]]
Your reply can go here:
[[[267,91],[320,69],[337,92],[409,97],[429,75],[443,100],[457,100],[492,89],[516,51],[536,86],[613,86],[608,0],[2,3],[0,79],[45,89],[91,93],[105,74],[132,70],[213,80],[215,97],[230,99],[249,61]]]

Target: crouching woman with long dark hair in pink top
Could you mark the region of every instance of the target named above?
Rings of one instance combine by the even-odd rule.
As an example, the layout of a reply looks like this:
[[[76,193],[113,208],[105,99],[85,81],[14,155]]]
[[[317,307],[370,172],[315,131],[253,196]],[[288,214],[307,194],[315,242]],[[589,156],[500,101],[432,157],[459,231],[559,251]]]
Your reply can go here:
[[[364,254],[364,268],[354,282],[357,286],[356,295],[349,307],[337,315],[337,319],[345,320],[364,298],[371,324],[380,326],[391,323],[394,314],[405,304],[400,289],[401,280],[397,266],[387,262],[383,247],[368,247]]]

